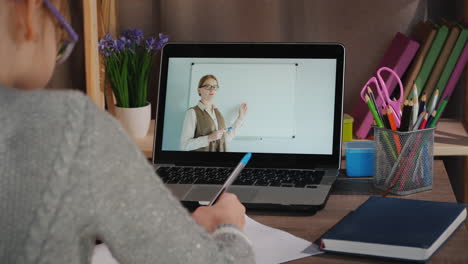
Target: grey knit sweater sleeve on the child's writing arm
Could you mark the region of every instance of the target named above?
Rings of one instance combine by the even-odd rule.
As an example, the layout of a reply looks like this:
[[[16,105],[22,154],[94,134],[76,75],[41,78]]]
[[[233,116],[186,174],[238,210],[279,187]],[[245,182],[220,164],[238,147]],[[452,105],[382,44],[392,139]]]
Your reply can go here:
[[[120,264],[254,263],[239,229],[195,223],[117,121],[88,102],[86,123],[96,236]]]

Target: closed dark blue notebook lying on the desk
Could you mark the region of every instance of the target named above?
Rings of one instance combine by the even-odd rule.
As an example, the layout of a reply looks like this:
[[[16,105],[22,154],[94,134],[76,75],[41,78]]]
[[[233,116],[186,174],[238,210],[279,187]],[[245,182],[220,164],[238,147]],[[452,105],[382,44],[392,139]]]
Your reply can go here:
[[[322,250],[425,262],[466,219],[466,205],[372,196],[322,237]]]

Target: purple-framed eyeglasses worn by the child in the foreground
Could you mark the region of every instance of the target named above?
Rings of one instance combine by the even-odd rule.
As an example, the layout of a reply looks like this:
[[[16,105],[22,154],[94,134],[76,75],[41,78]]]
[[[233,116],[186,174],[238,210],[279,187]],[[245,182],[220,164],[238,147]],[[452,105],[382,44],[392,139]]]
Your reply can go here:
[[[73,30],[70,24],[65,21],[65,18],[60,14],[60,12],[55,8],[55,6],[50,3],[49,0],[44,0],[44,4],[50,10],[50,12],[54,15],[55,18],[59,21],[60,25],[65,29],[68,33],[67,39],[62,39],[58,45],[58,53],[56,63],[61,64],[70,57],[73,48],[75,47],[76,42],[78,42],[78,34]]]

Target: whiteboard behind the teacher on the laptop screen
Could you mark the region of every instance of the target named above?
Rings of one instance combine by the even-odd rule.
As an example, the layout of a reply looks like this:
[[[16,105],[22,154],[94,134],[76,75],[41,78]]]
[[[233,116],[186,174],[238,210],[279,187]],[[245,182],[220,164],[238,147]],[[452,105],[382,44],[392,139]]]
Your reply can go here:
[[[213,103],[226,126],[234,123],[242,103],[248,106],[237,139],[294,138],[296,67],[294,63],[192,63],[187,108],[200,100],[200,78],[212,74],[219,82]]]

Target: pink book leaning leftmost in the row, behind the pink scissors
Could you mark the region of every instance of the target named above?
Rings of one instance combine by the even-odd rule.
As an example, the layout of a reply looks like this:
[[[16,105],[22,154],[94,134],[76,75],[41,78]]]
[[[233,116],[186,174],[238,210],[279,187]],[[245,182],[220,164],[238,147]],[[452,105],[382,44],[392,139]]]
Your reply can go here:
[[[408,38],[400,32],[396,33],[390,47],[387,49],[382,60],[377,66],[377,69],[381,67],[389,67],[393,69],[400,78],[402,78],[406,69],[416,55],[418,48],[418,42]],[[375,72],[373,74],[375,74]],[[383,77],[384,79],[387,79],[386,76]],[[395,90],[397,84],[395,78],[388,79],[386,84],[388,91],[391,94],[393,90]],[[378,101],[379,99],[376,98],[376,100]],[[364,103],[360,97],[358,102],[354,105],[351,115],[354,118],[354,132],[356,136],[358,138],[366,138],[374,119],[372,118],[372,114],[370,113],[366,103]]]

